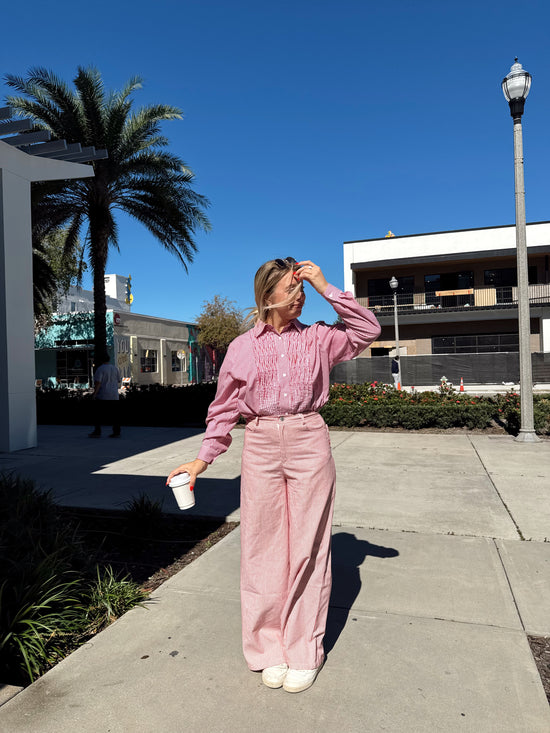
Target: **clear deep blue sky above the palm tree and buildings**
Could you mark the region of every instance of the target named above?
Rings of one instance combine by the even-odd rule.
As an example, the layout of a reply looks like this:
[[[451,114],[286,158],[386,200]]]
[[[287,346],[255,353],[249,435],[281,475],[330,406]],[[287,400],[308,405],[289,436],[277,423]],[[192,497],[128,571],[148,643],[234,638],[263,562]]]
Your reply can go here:
[[[547,1],[97,0],[3,12],[0,74],[96,66],[138,74],[135,104],[179,106],[170,148],[211,201],[189,273],[120,219],[108,272],[139,313],[192,321],[220,294],[253,305],[267,259],[312,259],[343,286],[342,243],[513,224],[512,120],[500,82],[533,75],[524,115],[527,220],[550,219]],[[2,97],[8,92],[0,83]],[[85,283],[86,284],[86,283]],[[311,292],[303,320],[332,321]]]

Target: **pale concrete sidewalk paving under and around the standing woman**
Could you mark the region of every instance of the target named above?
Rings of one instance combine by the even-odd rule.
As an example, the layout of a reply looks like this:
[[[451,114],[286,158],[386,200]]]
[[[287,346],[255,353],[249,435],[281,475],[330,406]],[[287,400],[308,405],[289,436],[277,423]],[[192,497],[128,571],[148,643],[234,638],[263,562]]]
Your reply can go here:
[[[0,454],[67,505],[147,493],[195,430],[42,427]],[[197,483],[196,514],[238,519],[243,431]],[[0,708],[9,733],[548,733],[527,634],[550,635],[550,442],[331,431],[338,471],[327,662],[289,695],[240,650],[239,531]],[[523,541],[530,540],[530,541]]]

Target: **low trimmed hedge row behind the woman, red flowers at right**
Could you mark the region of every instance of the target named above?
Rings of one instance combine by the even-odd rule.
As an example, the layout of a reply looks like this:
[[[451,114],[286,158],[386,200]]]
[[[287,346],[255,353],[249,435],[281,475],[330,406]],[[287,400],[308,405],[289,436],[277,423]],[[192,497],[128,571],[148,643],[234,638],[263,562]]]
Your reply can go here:
[[[204,427],[214,383],[186,387],[133,387],[121,399],[123,425]],[[58,425],[92,425],[91,396],[67,391],[37,393],[38,422]],[[517,434],[520,398],[515,392],[476,397],[452,388],[437,392],[406,392],[377,382],[335,384],[321,414],[331,426],[484,429],[499,424]],[[535,430],[550,434],[550,396],[534,397]]]

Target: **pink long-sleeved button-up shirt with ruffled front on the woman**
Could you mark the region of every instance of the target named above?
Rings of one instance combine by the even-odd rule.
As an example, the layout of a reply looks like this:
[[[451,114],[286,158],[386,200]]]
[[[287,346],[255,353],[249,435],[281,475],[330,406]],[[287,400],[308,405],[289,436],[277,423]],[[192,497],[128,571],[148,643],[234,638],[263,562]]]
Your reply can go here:
[[[323,297],[342,323],[305,326],[295,319],[277,333],[259,321],[231,342],[199,458],[211,463],[229,448],[239,415],[249,419],[319,410],[328,400],[332,367],[353,359],[378,337],[378,321],[351,293],[329,285]]]

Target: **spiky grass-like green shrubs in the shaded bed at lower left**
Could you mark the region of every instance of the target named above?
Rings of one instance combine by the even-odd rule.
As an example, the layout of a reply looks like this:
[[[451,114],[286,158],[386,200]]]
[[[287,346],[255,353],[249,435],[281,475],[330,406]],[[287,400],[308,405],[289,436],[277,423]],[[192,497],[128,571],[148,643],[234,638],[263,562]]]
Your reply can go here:
[[[0,680],[25,684],[144,594],[84,550],[50,493],[0,475]]]

